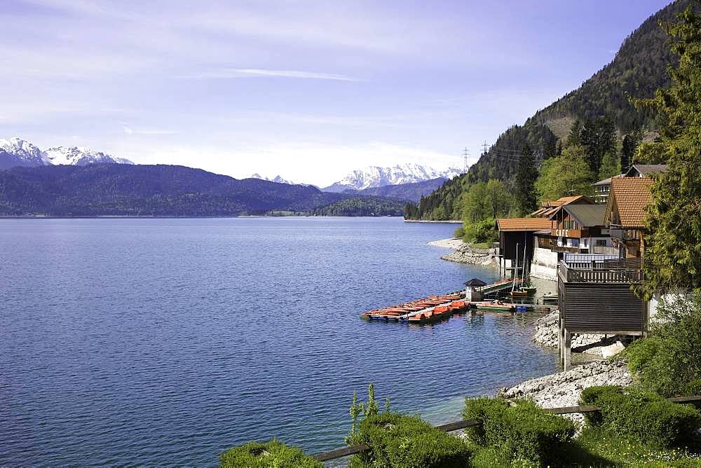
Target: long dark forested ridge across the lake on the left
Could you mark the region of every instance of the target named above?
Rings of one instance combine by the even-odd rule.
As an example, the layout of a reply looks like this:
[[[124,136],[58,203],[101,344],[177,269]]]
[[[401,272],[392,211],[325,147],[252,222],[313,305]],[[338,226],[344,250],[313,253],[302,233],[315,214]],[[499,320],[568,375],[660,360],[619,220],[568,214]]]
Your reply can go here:
[[[13,167],[0,170],[0,215],[236,216],[308,212],[348,198],[311,186],[233,179],[173,165]]]

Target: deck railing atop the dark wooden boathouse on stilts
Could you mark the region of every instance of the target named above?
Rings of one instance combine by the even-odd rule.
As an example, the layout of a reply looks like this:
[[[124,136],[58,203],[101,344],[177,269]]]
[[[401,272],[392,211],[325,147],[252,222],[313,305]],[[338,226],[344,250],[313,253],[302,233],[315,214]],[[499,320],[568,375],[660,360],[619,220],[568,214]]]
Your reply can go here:
[[[639,265],[639,260],[635,262],[626,259],[601,262],[561,260],[558,270],[562,280],[569,283],[639,283],[643,280],[643,272]]]

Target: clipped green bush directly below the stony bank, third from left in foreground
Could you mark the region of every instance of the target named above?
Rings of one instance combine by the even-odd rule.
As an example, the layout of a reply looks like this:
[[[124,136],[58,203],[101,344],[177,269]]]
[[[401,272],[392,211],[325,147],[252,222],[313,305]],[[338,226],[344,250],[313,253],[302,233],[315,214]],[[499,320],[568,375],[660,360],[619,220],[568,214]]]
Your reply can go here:
[[[533,401],[518,400],[510,406],[503,399],[465,399],[463,418],[475,419],[468,435],[483,446],[498,448],[513,464],[540,464],[543,457],[570,441],[573,422],[548,413]]]

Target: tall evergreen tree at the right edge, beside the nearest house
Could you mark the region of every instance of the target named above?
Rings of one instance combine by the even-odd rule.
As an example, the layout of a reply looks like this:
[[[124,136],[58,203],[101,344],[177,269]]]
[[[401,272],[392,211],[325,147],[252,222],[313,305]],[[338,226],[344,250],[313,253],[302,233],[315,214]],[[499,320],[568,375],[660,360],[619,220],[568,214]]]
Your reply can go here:
[[[672,85],[644,102],[665,125],[661,145],[667,171],[655,177],[645,238],[646,298],[655,292],[701,289],[701,15],[691,7],[665,25],[679,65]]]

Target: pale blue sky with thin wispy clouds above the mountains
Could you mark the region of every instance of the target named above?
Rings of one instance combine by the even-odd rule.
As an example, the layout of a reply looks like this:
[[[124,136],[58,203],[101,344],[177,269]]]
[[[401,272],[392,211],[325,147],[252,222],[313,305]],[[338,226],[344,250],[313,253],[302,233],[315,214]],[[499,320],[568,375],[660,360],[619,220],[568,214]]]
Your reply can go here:
[[[2,0],[0,138],[326,186],[463,167],[660,0]]]

